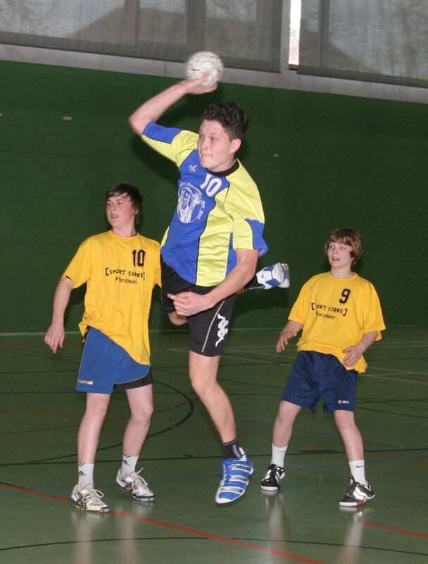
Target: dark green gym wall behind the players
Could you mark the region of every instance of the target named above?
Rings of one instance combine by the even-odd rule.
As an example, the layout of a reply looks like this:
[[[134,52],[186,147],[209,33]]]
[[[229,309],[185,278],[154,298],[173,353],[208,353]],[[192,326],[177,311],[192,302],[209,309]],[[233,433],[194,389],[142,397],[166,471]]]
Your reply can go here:
[[[0,73],[0,332],[44,331],[77,245],[107,228],[109,185],[139,186],[141,231],[163,235],[177,171],[139,141],[127,116],[175,81],[6,61]],[[322,245],[340,226],[363,233],[358,271],[377,287],[387,324],[426,324],[427,106],[220,85],[183,99],[162,121],[195,129],[218,99],[239,102],[251,117],[239,157],[265,208],[270,252],[260,264],[286,260],[291,269],[289,290],[239,297],[234,327],[282,326],[301,284],[327,268]],[[75,290],[68,329],[81,312]],[[158,292],[151,326],[169,328]]]

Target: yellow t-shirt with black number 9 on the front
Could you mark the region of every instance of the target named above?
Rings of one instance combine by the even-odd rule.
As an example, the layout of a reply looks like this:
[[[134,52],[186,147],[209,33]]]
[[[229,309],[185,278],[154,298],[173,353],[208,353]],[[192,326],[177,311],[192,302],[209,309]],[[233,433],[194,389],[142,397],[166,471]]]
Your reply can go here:
[[[385,329],[379,298],[372,283],[358,274],[336,278],[329,272],[310,278],[301,289],[289,314],[291,321],[303,324],[298,350],[315,350],[334,355],[341,362],[344,349],[356,345],[365,333]],[[347,367],[365,372],[363,356]]]

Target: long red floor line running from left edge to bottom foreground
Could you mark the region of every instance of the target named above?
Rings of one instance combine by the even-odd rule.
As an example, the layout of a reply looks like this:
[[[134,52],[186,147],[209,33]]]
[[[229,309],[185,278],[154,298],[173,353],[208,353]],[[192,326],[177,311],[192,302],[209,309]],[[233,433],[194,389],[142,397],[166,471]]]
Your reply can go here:
[[[61,496],[55,496],[53,494],[46,494],[44,491],[36,491],[32,489],[22,488],[19,486],[12,486],[10,484],[0,484],[0,487],[4,489],[10,489],[13,491],[20,491],[23,494],[31,494],[32,496],[40,496],[49,499],[55,499],[56,501],[70,501],[70,498],[63,498]],[[289,558],[290,560],[296,560],[297,562],[304,562],[306,564],[325,564],[320,562],[320,560],[310,560],[310,558],[302,558],[301,556],[296,556],[295,554],[289,554],[287,552],[275,551],[273,548],[264,548],[263,546],[258,546],[258,544],[250,544],[242,541],[237,541],[234,539],[229,539],[228,537],[219,537],[216,534],[206,533],[203,531],[197,531],[196,529],[189,529],[188,527],[182,527],[180,525],[173,525],[172,523],[167,523],[164,521],[156,521],[153,519],[146,519],[146,517],[139,517],[138,515],[131,515],[130,513],[122,513],[122,511],[111,510],[113,515],[118,515],[119,517],[126,517],[127,519],[134,519],[137,521],[142,521],[144,523],[149,523],[149,525],[156,525],[157,527],[167,527],[168,529],[173,529],[175,531],[182,531],[187,534],[196,535],[198,537],[205,537],[207,539],[212,539],[213,541],[225,542],[228,544],[234,544],[235,546],[241,546],[243,548],[251,548],[252,550],[266,552],[268,554],[273,554],[275,556],[281,556],[282,558]]]

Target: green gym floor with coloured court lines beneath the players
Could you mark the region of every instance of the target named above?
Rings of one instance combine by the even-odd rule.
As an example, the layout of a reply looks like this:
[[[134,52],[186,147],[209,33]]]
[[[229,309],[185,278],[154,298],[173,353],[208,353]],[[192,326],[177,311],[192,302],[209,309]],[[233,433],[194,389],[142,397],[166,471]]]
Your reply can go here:
[[[75,393],[80,338],[56,355],[42,336],[1,336],[0,562],[13,564],[419,564],[428,561],[428,329],[385,331],[367,352],[356,419],[376,497],[341,510],[348,465],[331,415],[302,411],[282,489],[267,495],[272,422],[294,345],[275,353],[278,331],[231,331],[219,381],[234,405],[255,471],[244,498],[219,508],[222,453],[187,377],[187,334],[151,336],[155,408],[141,455],[153,503],[115,489],[128,417],[112,396],[95,467],[111,513],[68,505],[76,482]],[[140,466],[139,466],[140,467]]]

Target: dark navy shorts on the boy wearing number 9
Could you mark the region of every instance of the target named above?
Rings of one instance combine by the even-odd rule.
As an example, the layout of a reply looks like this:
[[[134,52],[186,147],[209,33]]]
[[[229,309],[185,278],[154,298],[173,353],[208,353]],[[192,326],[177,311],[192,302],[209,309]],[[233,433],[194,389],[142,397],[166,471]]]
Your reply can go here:
[[[346,370],[334,355],[302,350],[291,368],[282,399],[315,411],[322,398],[324,411],[353,411],[357,375],[356,370]]]

